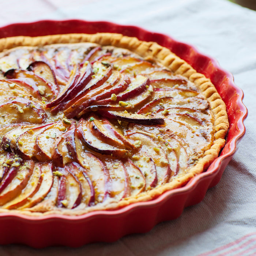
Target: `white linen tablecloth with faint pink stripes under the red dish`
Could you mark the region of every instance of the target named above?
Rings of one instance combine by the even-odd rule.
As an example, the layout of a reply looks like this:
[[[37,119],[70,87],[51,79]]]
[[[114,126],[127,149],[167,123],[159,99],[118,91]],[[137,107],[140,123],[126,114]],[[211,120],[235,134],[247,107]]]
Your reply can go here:
[[[107,20],[196,46],[244,91],[246,134],[217,186],[146,234],[79,248],[0,246],[0,255],[256,255],[256,12],[226,0],[8,0],[0,26],[42,19]],[[1,230],[3,232],[3,230]]]

